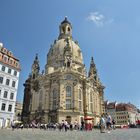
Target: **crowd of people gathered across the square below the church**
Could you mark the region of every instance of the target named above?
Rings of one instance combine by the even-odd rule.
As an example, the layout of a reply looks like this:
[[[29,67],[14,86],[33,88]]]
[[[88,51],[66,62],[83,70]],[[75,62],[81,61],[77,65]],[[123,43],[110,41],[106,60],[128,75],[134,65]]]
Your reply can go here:
[[[137,121],[137,125],[140,126],[140,121]],[[114,119],[112,119],[111,115],[106,113],[102,114],[100,117],[100,121],[97,124],[96,128],[100,128],[101,133],[110,133],[112,129],[116,129],[116,122]],[[130,125],[131,126],[131,125]],[[128,127],[130,127],[128,126]],[[15,128],[39,128],[39,129],[44,129],[44,130],[59,130],[59,131],[65,131],[67,132],[68,130],[73,131],[73,130],[80,130],[80,131],[90,131],[94,128],[93,122],[88,122],[85,120],[82,120],[81,123],[79,124],[77,120],[75,120],[73,123],[67,122],[67,120],[62,120],[61,123],[48,123],[48,124],[41,124],[35,120],[33,120],[30,123],[19,123],[15,124],[14,121],[11,123],[12,130]],[[131,127],[130,127],[131,128]],[[138,127],[140,128],[140,127]]]

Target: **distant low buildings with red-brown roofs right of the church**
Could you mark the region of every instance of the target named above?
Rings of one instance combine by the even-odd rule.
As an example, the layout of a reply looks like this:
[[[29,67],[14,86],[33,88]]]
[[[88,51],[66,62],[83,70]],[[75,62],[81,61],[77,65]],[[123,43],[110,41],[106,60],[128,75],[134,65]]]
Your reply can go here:
[[[112,116],[117,125],[135,124],[139,120],[136,106],[131,103],[105,102],[105,111]]]

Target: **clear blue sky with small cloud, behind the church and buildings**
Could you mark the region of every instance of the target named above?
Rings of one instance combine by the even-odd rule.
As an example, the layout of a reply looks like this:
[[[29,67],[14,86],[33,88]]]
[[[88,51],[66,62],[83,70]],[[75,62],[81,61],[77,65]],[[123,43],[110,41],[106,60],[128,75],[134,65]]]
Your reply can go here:
[[[65,16],[72,23],[84,63],[94,57],[105,99],[140,107],[139,0],[0,0],[0,42],[19,58],[17,100],[38,53],[41,70]]]

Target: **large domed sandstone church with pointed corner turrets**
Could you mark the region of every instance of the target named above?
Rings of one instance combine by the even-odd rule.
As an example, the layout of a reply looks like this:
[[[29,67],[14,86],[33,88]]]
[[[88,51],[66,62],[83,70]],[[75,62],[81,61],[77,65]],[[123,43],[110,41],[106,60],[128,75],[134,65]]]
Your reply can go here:
[[[104,86],[94,59],[91,58],[87,75],[81,48],[73,40],[72,24],[67,18],[59,30],[58,39],[47,54],[45,71],[39,72],[36,55],[31,74],[24,83],[22,119],[41,123],[92,120],[96,124],[104,112]]]

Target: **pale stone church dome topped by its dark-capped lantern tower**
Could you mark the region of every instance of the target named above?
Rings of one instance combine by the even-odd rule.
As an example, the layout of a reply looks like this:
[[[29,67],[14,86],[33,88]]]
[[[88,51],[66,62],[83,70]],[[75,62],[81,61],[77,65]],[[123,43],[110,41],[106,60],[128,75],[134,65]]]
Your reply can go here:
[[[47,67],[54,67],[54,69],[63,67],[66,57],[72,60],[72,65],[76,69],[82,67],[82,52],[78,42],[72,38],[72,26],[67,18],[61,22],[59,29],[58,40],[51,45],[47,55]]]

